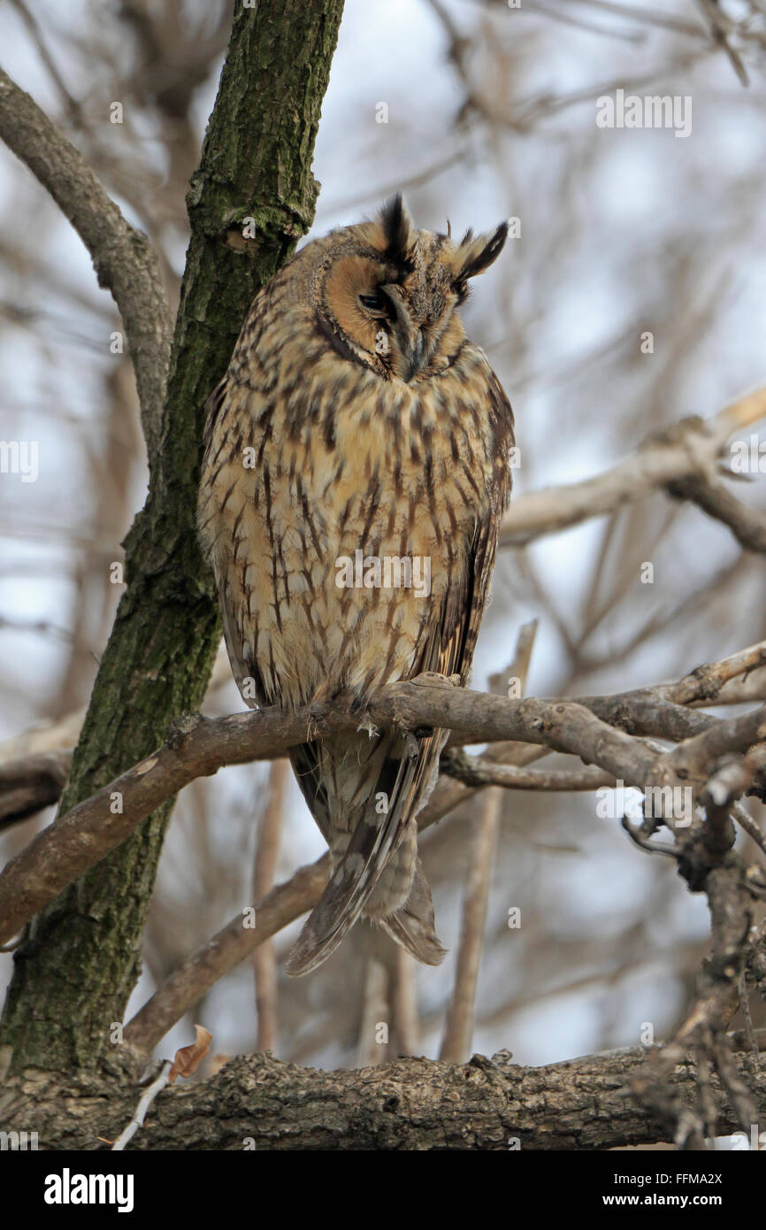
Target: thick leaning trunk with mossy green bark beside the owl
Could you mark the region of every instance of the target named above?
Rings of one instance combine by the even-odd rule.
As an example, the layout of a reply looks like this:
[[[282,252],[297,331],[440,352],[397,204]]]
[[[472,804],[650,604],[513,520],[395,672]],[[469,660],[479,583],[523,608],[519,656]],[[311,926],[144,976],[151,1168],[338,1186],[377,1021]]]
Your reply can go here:
[[[167,400],[146,504],[125,539],[127,592],[61,800],[65,812],[139,761],[200,705],[220,627],[195,535],[204,405],[253,295],[311,224],[311,157],[343,0],[235,6],[202,161]],[[255,237],[242,239],[243,219]],[[108,1066],[172,802],[32,922],[0,1026],[11,1069]],[[7,1054],[7,1052],[6,1052]]]

